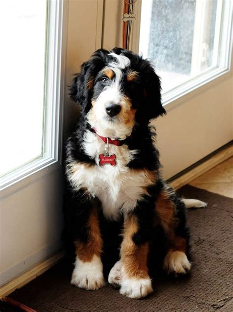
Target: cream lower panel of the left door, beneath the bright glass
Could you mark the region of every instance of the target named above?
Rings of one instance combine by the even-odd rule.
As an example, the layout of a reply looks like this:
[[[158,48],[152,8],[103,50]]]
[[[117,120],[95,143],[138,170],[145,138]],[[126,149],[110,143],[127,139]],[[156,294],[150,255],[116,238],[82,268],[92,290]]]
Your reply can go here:
[[[9,194],[0,206],[0,285],[61,247],[61,169]]]

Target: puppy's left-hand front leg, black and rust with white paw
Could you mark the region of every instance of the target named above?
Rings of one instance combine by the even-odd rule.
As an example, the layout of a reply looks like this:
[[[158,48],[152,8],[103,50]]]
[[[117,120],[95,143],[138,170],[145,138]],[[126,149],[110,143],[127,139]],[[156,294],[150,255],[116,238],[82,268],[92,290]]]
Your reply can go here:
[[[68,209],[76,246],[71,284],[87,290],[98,289],[105,281],[101,261],[103,241],[95,202],[85,189],[81,189],[71,197]]]

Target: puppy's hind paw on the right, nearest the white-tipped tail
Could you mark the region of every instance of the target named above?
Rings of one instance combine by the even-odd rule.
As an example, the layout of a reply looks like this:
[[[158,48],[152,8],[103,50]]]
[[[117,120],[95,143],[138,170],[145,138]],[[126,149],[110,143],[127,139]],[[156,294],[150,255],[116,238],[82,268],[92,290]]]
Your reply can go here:
[[[185,274],[191,269],[191,263],[182,251],[169,251],[163,262],[163,269],[168,273]]]

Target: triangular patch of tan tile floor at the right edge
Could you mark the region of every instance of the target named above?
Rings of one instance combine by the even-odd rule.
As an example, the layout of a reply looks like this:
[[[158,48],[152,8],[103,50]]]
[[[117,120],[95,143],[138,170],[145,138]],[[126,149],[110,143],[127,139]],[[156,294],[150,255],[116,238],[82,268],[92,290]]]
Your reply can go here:
[[[189,184],[233,198],[233,157],[210,169]]]

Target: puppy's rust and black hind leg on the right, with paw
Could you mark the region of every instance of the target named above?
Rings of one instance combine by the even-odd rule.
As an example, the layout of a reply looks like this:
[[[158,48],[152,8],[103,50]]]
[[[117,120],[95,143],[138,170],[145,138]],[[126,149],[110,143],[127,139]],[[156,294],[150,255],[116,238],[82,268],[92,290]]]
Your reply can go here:
[[[168,240],[168,252],[163,268],[168,273],[185,274],[191,269],[187,258],[189,230],[186,226],[185,205],[167,185],[160,191],[155,211]]]

